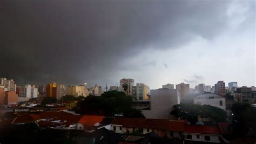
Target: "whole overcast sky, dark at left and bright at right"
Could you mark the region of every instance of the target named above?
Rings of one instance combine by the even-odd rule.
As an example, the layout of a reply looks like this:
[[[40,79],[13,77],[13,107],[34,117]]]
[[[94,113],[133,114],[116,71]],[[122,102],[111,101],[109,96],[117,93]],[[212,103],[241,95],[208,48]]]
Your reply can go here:
[[[255,1],[1,1],[0,77],[252,86],[255,12]]]

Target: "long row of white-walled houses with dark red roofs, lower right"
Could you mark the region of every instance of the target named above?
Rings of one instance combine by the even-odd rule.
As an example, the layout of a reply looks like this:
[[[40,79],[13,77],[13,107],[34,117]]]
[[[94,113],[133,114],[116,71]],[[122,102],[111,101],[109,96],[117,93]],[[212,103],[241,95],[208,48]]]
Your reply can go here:
[[[185,141],[213,142],[225,141],[220,127],[205,125],[187,125],[185,121],[144,118],[115,118],[110,125],[111,131],[117,134],[147,135],[155,133],[159,138],[169,138]],[[130,133],[129,133],[130,132]]]

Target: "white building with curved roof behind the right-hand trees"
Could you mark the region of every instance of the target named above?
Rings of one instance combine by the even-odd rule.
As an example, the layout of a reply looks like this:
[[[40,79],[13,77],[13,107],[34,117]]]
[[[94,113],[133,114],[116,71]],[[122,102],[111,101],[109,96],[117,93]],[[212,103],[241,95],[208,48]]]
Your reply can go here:
[[[193,98],[193,104],[211,105],[226,111],[226,100],[218,94],[203,93]]]

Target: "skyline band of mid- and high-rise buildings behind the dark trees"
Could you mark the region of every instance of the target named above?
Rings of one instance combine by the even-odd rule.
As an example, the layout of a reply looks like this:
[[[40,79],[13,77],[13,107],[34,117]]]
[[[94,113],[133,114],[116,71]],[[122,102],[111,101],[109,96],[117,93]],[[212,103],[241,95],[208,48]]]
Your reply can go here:
[[[255,104],[256,98],[256,87],[239,87],[234,81],[226,86],[223,80],[217,81],[214,86],[198,84],[194,88],[185,83],[177,85],[168,83],[158,90],[150,90],[148,85],[135,83],[132,78],[120,79],[119,86],[109,88],[107,85],[103,88],[97,84],[89,88],[86,88],[86,84],[65,86],[55,82],[46,86],[29,84],[16,86],[14,80],[6,78],[1,78],[0,82],[1,105],[17,106],[18,102],[44,97],[56,98],[59,101],[65,95],[87,97],[88,95],[100,96],[106,91],[120,91],[131,95],[133,107],[140,109],[145,117],[150,119],[173,119],[170,115],[173,106],[187,102],[196,105],[211,105],[230,114],[234,102]],[[75,103],[69,105],[68,107],[76,106]]]

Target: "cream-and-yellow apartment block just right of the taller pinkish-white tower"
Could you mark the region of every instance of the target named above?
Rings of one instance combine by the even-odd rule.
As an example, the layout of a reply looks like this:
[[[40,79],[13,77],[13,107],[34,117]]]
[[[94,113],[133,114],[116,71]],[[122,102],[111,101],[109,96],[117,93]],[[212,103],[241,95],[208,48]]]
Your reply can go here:
[[[132,86],[133,100],[148,100],[150,95],[149,86],[137,83],[136,86]]]

